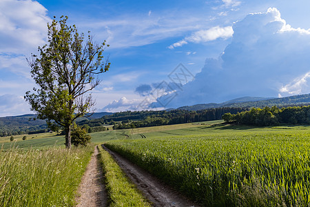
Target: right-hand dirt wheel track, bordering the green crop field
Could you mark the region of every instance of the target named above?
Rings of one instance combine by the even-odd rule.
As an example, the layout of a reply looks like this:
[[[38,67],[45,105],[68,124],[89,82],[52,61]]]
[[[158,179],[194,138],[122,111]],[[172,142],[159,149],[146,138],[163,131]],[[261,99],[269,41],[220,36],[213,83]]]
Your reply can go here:
[[[103,148],[105,148],[105,146],[103,146]],[[116,152],[112,152],[107,148],[105,148],[105,150],[114,157],[117,164],[154,206],[197,206],[192,201],[183,197],[183,195],[177,193],[176,190],[163,184],[162,181],[149,174],[149,172],[136,166],[136,164],[121,157],[121,155],[118,155]]]

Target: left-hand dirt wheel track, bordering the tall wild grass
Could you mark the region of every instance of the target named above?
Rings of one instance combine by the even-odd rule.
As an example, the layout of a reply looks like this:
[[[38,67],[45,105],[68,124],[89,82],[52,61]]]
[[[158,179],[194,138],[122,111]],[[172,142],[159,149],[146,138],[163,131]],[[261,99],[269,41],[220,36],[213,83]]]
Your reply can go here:
[[[103,172],[99,163],[99,151],[95,147],[79,186],[76,203],[78,207],[107,206],[107,193],[103,183]]]

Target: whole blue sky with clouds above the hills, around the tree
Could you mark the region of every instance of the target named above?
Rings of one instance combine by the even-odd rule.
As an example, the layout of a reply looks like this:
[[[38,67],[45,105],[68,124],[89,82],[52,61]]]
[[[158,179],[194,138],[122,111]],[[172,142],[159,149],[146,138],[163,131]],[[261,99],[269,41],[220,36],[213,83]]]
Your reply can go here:
[[[111,67],[96,111],[161,110],[310,92],[310,1],[0,1],[0,117],[33,113],[26,61],[47,23],[91,31]]]

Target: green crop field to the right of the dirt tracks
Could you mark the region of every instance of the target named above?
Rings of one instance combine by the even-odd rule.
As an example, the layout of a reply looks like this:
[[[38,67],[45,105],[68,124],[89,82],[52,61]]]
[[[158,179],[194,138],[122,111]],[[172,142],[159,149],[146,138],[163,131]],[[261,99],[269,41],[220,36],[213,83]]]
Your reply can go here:
[[[112,132],[101,133],[110,139],[108,148],[205,206],[309,204],[310,126],[205,122],[152,132],[114,131],[116,137]],[[137,139],[142,132],[146,138]],[[122,133],[130,136],[116,140]]]

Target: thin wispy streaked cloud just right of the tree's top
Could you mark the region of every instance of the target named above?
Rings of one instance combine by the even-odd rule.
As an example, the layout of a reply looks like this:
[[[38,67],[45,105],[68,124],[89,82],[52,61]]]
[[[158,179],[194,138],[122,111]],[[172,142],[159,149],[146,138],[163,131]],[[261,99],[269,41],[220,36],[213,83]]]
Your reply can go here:
[[[153,14],[149,17],[122,16],[109,21],[81,19],[79,26],[96,34],[96,39],[106,39],[110,48],[145,46],[156,41],[177,37],[184,32],[202,28],[200,17],[189,17],[182,13]]]

